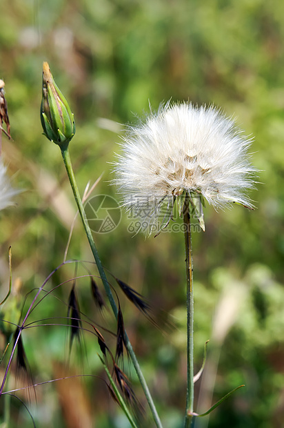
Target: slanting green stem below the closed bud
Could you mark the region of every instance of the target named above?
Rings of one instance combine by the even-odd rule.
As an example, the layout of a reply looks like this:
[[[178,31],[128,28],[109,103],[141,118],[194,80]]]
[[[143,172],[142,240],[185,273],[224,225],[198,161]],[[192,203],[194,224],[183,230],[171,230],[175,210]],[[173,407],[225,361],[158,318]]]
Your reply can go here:
[[[116,307],[116,303],[115,303],[114,297],[112,295],[112,290],[110,289],[110,284],[108,283],[108,279],[106,278],[105,271],[103,269],[103,265],[101,264],[101,260],[99,258],[99,253],[97,251],[97,247],[94,244],[94,238],[92,237],[92,231],[91,231],[90,226],[88,224],[88,220],[85,217],[85,211],[84,211],[83,203],[82,203],[82,200],[81,200],[81,196],[79,194],[79,190],[78,190],[78,187],[77,187],[77,182],[76,182],[76,179],[75,179],[75,176],[74,176],[74,172],[73,172],[73,168],[72,168],[72,164],[71,164],[70,153],[69,153],[68,147],[67,148],[61,148],[61,153],[62,153],[64,165],[65,165],[65,168],[66,168],[66,171],[67,171],[67,174],[68,174],[68,178],[69,178],[69,181],[70,181],[70,184],[71,184],[71,187],[72,187],[74,198],[75,198],[75,201],[77,203],[79,214],[81,216],[81,220],[82,220],[83,226],[85,228],[85,233],[86,233],[86,235],[88,237],[90,248],[92,250],[92,254],[94,255],[94,260],[95,260],[95,262],[97,264],[97,269],[99,271],[99,275],[101,276],[101,280],[103,282],[103,286],[105,287],[105,293],[108,295],[108,300],[110,301],[110,306],[112,307],[112,311],[113,311],[115,317],[117,318],[118,309]],[[130,358],[132,359],[132,363],[134,365],[134,368],[136,370],[137,376],[139,378],[139,381],[140,381],[141,386],[143,388],[143,391],[145,393],[145,397],[146,397],[146,399],[148,401],[148,404],[149,404],[149,407],[150,407],[150,409],[152,411],[152,416],[153,416],[154,421],[156,423],[156,427],[163,428],[162,424],[161,424],[161,420],[159,418],[159,415],[158,415],[158,413],[156,411],[156,407],[154,405],[154,401],[153,401],[152,396],[150,394],[148,385],[147,385],[147,383],[145,381],[145,378],[144,378],[143,373],[141,371],[141,368],[139,366],[139,362],[138,362],[138,360],[136,358],[136,355],[135,355],[135,353],[133,351],[132,344],[130,343],[130,340],[128,338],[128,335],[127,335],[126,331],[125,331],[125,346],[128,349],[128,352],[130,354]]]

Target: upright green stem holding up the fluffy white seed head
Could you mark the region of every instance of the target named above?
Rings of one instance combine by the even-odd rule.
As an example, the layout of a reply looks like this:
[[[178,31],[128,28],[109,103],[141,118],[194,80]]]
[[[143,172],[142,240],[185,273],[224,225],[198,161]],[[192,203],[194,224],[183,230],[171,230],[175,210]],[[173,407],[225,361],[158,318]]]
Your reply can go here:
[[[185,228],[185,264],[186,264],[186,302],[187,302],[187,391],[184,427],[192,425],[194,405],[194,367],[193,367],[193,266],[192,235],[190,230],[189,195],[185,195],[183,206],[183,224]]]

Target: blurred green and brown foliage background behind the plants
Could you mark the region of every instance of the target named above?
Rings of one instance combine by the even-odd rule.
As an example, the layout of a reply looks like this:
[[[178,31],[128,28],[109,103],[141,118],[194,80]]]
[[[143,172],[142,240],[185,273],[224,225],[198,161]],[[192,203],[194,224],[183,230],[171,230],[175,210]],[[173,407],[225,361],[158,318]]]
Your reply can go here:
[[[256,211],[235,206],[216,213],[208,207],[206,231],[193,237],[196,371],[203,344],[211,339],[207,369],[196,383],[196,410],[204,411],[245,383],[197,427],[283,423],[283,14],[284,3],[276,0],[1,1],[0,78],[6,82],[13,137],[9,142],[3,136],[3,157],[14,186],[25,189],[16,207],[0,213],[2,298],[9,281],[8,246],[24,300],[63,261],[75,215],[59,148],[41,135],[43,61],[49,62],[75,115],[70,153],[81,193],[103,173],[93,195],[118,199],[109,182],[121,124],[143,117],[149,103],[154,110],[170,98],[214,103],[254,137],[252,163],[260,170],[260,184],[252,192]],[[143,293],[154,315],[167,311],[176,325],[162,335],[121,298],[125,326],[164,427],[180,427],[186,388],[183,236],[163,233],[145,240],[132,237],[128,224],[123,215],[112,233],[95,235],[95,240],[103,264]],[[82,231],[77,220],[68,257],[92,260]],[[64,266],[50,288],[73,275],[74,265]],[[31,320],[64,316],[71,284],[59,287],[57,298],[46,297]],[[88,280],[77,282],[77,292],[84,313],[115,329],[108,314],[103,321],[94,314]],[[31,296],[24,309],[28,302]],[[26,330],[23,341],[34,382],[63,376],[69,358],[64,327]],[[86,335],[84,343],[88,359],[72,354],[72,373],[104,376],[97,341]],[[4,362],[2,374],[3,367]],[[72,400],[58,386],[64,382],[69,385],[66,380],[37,387],[37,405],[32,401],[29,408],[38,427],[80,426],[70,425],[66,416]],[[135,376],[133,382],[144,404]],[[10,385],[12,378],[6,388]],[[79,405],[77,386],[73,407],[90,414],[90,426],[127,427],[102,380],[90,378],[81,388],[85,395]],[[10,427],[31,426],[21,403],[12,399],[11,409]]]

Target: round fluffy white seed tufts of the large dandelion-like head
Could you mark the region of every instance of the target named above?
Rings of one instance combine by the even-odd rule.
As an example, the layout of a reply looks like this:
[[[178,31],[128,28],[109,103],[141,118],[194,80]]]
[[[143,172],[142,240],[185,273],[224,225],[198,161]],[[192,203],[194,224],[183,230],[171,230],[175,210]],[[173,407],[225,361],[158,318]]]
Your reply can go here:
[[[129,127],[115,182],[127,208],[147,204],[152,217],[159,215],[159,201],[184,191],[203,195],[214,208],[232,202],[252,208],[246,195],[254,186],[250,144],[214,107],[167,103],[145,124]]]

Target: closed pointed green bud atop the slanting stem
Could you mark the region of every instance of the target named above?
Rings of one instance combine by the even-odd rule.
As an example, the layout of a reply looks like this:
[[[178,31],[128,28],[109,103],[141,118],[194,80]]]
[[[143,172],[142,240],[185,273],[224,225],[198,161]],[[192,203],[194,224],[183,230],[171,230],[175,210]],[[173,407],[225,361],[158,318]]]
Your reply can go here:
[[[75,133],[74,115],[55,84],[47,62],[43,63],[41,126],[45,137],[61,148],[68,147]]]

